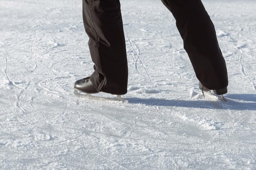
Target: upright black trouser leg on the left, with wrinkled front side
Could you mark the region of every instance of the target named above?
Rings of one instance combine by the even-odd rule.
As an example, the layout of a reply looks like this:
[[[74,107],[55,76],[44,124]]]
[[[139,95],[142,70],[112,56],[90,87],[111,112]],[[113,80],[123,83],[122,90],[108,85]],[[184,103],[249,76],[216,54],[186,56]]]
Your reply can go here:
[[[83,24],[94,62],[92,84],[98,91],[127,93],[128,65],[119,0],[83,0]]]

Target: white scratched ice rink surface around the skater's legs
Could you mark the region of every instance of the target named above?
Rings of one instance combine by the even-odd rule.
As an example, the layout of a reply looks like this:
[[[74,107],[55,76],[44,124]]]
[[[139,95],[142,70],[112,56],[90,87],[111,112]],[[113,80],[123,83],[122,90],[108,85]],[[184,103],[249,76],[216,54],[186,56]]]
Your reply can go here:
[[[256,170],[256,1],[203,3],[228,103],[203,97],[160,0],[121,0],[128,102],[73,95],[93,71],[80,0],[0,0],[0,169]]]

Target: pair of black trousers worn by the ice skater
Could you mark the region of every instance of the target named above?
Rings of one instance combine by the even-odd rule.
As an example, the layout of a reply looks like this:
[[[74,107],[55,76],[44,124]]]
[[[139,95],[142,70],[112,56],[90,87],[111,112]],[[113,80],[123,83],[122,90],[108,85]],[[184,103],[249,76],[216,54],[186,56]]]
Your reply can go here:
[[[227,67],[213,23],[201,0],[162,0],[171,11],[196,77],[209,89],[228,86]],[[119,0],[83,0],[83,23],[89,36],[98,91],[127,93],[128,66]]]

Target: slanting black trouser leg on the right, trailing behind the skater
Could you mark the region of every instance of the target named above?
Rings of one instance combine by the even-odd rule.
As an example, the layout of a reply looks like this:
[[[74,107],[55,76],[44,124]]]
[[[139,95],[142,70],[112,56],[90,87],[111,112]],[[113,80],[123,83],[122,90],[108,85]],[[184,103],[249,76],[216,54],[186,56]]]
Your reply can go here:
[[[209,89],[228,85],[227,67],[213,23],[201,0],[162,0],[173,13],[199,81]]]

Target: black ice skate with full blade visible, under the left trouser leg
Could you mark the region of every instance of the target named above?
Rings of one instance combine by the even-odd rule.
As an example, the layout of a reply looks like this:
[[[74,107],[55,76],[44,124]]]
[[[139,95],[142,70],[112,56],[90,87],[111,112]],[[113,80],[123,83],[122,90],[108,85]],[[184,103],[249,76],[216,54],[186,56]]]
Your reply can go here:
[[[94,85],[90,81],[90,77],[77,80],[74,84],[74,89],[75,89],[74,95],[76,95],[77,97],[90,97],[90,98],[94,97],[95,98],[96,96],[92,96],[91,94],[100,92],[100,91],[97,91],[97,89],[94,87]],[[78,92],[82,92],[86,94],[83,95]],[[125,101],[124,99],[121,98],[121,95],[117,95],[116,98],[108,98],[108,97],[97,97],[97,98]]]

